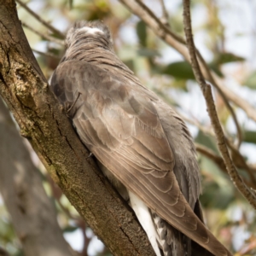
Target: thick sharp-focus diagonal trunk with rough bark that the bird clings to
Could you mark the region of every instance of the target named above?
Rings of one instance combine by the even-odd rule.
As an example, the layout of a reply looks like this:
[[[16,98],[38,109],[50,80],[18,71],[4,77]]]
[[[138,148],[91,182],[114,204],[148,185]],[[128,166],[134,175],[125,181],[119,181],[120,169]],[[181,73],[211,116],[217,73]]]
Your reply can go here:
[[[50,93],[13,0],[0,0],[0,94],[51,177],[114,255],[154,255],[134,214],[97,171]]]

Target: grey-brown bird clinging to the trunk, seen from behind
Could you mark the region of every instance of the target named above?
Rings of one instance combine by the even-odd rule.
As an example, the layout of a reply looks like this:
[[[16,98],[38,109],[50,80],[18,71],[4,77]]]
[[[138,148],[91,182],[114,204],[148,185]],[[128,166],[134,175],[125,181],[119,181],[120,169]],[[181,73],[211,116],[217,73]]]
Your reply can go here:
[[[102,21],[76,21],[65,44],[50,89],[155,255],[232,255],[204,223],[195,145],[183,119],[119,60]]]

